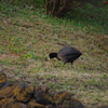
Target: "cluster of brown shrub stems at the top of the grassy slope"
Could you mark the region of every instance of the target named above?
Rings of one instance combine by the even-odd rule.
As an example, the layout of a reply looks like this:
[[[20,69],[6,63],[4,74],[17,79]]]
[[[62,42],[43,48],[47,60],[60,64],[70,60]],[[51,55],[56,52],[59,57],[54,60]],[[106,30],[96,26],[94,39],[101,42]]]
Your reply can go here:
[[[72,3],[73,0],[44,0],[45,14],[62,17],[71,10]]]

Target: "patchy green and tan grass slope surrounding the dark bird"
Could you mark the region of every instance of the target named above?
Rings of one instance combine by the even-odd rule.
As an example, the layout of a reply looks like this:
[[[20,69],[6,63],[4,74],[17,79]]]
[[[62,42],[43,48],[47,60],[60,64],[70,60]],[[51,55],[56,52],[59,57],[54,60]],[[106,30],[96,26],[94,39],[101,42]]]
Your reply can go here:
[[[75,10],[72,19],[71,15],[59,19],[44,15],[43,9],[4,2],[0,3],[0,70],[5,68],[10,81],[69,91],[85,108],[108,104],[106,6],[99,9],[103,12],[100,17],[96,16],[100,13],[96,9],[94,12],[98,13],[93,14],[90,9],[76,9],[80,14]],[[86,18],[79,18],[81,12]],[[91,15],[96,18],[87,21]],[[63,67],[57,59],[48,60],[49,53],[57,52],[67,44],[83,53],[72,67],[70,64]]]

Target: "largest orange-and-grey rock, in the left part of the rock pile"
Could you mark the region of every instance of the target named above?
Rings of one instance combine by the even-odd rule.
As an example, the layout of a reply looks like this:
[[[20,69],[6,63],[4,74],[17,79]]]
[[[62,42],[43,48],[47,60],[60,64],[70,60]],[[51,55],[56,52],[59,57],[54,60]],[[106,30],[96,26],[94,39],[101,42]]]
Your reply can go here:
[[[27,103],[33,94],[33,87],[26,83],[6,83],[0,91],[0,98],[14,97],[18,102]]]

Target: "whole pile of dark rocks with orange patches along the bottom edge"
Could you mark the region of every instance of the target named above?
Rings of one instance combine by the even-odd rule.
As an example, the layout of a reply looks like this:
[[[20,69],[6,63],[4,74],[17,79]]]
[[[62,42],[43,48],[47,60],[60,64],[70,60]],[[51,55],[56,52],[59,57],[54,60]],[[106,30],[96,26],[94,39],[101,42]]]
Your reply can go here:
[[[35,87],[24,82],[8,82],[5,73],[0,71],[0,108],[84,108],[71,96],[69,92],[52,95],[44,86]]]

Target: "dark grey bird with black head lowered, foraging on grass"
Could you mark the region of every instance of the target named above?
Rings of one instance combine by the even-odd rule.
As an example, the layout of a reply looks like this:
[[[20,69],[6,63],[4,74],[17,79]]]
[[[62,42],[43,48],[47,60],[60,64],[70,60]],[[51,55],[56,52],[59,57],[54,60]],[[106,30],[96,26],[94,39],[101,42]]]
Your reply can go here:
[[[50,53],[49,56],[50,58],[56,57],[58,60],[63,60],[64,65],[66,63],[72,63],[82,55],[80,51],[78,51],[75,48],[63,48],[60,49],[57,53]]]

